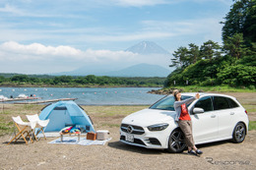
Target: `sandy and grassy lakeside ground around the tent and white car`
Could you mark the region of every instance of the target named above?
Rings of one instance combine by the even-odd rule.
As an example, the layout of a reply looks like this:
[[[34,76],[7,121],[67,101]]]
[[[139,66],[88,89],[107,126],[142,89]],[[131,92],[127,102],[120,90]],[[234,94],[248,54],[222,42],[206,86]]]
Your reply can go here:
[[[256,121],[255,93],[228,93],[249,110],[250,121]],[[1,106],[1,105],[0,105]],[[42,105],[5,105],[0,108],[0,133],[3,125],[12,126],[11,116],[37,113]],[[171,154],[165,150],[146,149],[119,141],[123,117],[148,106],[83,106],[92,117],[96,130],[108,130],[112,140],[105,145],[49,144],[41,139],[26,145],[7,145],[10,135],[0,137],[0,169],[256,169],[256,131],[249,131],[242,143],[216,142],[198,145],[201,157]],[[251,110],[251,111],[250,111]],[[5,131],[6,130],[6,131]],[[10,133],[10,132],[9,132]]]

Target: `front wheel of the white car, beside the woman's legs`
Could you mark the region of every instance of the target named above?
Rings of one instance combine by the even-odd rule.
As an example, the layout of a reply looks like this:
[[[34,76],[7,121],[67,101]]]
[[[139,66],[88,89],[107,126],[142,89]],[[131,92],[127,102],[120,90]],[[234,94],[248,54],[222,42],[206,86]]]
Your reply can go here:
[[[180,153],[186,147],[185,136],[180,129],[171,132],[167,150],[171,153]]]

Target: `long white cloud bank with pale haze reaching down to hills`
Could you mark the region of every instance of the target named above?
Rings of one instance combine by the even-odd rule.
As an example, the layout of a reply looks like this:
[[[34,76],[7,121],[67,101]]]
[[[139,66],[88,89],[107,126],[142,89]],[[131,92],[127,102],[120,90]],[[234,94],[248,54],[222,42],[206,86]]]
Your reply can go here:
[[[168,56],[139,55],[128,51],[85,51],[71,46],[45,46],[40,43],[21,44],[8,41],[0,44],[0,73],[47,74],[67,72],[80,67],[116,68],[148,63],[167,66]]]

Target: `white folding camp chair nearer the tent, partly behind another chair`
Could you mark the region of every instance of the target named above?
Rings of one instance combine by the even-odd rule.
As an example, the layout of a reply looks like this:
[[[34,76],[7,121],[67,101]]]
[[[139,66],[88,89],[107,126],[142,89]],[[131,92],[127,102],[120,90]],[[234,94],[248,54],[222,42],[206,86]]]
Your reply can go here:
[[[47,120],[40,120],[38,115],[37,114],[34,114],[34,115],[26,115],[28,120],[31,122],[31,123],[35,123],[35,128],[38,128],[39,130],[36,132],[36,135],[34,134],[34,131],[33,131],[33,135],[34,135],[34,138],[35,140],[37,141],[36,139],[36,136],[39,134],[39,132],[41,132],[43,134],[43,137],[44,139],[46,140],[46,137],[44,135],[44,131],[43,129],[48,125],[49,123],[49,119]]]

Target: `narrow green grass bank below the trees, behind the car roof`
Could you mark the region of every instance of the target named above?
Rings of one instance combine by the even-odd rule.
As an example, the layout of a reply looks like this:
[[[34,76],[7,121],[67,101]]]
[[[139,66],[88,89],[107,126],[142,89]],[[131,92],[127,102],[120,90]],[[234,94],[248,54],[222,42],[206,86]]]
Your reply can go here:
[[[231,87],[228,85],[211,85],[211,86],[199,86],[199,85],[183,85],[183,86],[170,86],[163,89],[177,88],[182,89],[184,92],[198,92],[198,91],[218,91],[218,92],[256,92],[255,88],[249,88],[245,86]]]

